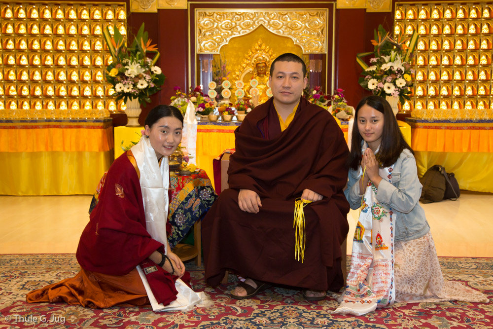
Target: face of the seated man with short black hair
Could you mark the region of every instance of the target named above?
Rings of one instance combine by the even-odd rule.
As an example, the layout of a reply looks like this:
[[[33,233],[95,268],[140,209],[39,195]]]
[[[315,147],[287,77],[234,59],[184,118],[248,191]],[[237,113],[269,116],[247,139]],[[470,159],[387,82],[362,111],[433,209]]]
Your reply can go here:
[[[308,79],[303,76],[303,66],[297,62],[276,62],[269,77],[274,99],[285,105],[299,102]]]

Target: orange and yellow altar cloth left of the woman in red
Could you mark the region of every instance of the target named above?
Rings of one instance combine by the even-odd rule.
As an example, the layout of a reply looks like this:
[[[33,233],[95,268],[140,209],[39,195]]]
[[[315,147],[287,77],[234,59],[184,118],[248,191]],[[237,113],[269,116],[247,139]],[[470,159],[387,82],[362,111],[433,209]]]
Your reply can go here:
[[[111,119],[0,120],[0,194],[92,194],[113,158]]]

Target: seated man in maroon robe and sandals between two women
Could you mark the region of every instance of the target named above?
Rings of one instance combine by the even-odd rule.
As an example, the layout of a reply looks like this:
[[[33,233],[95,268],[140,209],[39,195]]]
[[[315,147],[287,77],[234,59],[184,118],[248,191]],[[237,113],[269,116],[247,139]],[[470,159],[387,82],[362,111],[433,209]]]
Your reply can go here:
[[[205,275],[217,286],[226,270],[243,277],[231,296],[249,298],[272,284],[303,289],[307,300],[344,285],[341,248],[348,233],[349,151],[335,119],[302,97],[306,66],[294,54],[271,65],[273,97],[235,131],[236,152],[222,191],[203,219]],[[306,245],[295,259],[295,199],[304,208]]]

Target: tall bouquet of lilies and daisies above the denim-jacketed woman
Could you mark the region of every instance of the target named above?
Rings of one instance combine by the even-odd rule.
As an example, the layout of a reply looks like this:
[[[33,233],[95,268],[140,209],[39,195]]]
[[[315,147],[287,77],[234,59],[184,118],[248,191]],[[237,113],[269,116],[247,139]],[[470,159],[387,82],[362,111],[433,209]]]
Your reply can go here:
[[[414,52],[418,40],[415,32],[412,37],[404,38],[399,35],[396,39],[380,25],[375,30],[375,40],[371,40],[375,46],[373,52],[362,53],[356,56],[356,61],[363,68],[359,84],[374,95],[399,97],[401,103],[409,100],[410,87],[413,86],[411,69],[411,55]],[[406,45],[409,41],[409,46]],[[373,54],[368,66],[361,57]]]

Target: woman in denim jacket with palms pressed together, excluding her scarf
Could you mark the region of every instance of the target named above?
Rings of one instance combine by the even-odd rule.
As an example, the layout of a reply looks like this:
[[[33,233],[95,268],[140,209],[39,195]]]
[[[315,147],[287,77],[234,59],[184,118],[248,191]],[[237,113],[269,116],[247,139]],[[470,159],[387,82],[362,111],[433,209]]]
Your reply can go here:
[[[422,185],[414,151],[405,142],[388,102],[379,96],[363,98],[356,107],[355,120],[345,195],[351,208],[358,209],[371,181],[378,202],[395,214],[395,300],[487,302],[484,294],[443,279],[430,227],[419,203]],[[390,183],[387,177],[379,176],[379,168],[392,164]],[[365,175],[360,175],[365,167]]]

